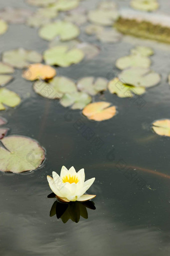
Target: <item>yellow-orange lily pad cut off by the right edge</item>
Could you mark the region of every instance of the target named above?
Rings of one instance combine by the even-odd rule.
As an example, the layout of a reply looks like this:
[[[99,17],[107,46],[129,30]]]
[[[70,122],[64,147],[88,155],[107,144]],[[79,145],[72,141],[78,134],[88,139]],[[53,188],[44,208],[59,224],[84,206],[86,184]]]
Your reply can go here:
[[[152,123],[152,129],[158,135],[170,137],[170,120],[157,120]]]

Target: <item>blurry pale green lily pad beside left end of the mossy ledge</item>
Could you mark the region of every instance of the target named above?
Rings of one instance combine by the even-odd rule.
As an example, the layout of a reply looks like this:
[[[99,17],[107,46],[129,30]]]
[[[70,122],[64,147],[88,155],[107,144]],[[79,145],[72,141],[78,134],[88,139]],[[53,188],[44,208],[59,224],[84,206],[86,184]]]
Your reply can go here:
[[[88,12],[88,20],[102,26],[111,26],[118,18],[118,13],[112,10],[93,10]]]

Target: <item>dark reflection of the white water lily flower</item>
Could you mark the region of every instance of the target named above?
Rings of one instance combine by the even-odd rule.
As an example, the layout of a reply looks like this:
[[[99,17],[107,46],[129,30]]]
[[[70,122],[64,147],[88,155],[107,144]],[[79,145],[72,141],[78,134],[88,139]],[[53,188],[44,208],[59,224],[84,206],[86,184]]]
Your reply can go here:
[[[48,198],[54,198],[55,194],[51,193],[48,195]],[[73,222],[78,223],[80,216],[87,219],[88,213],[87,209],[95,210],[93,201],[86,202],[69,202],[63,203],[56,200],[50,209],[49,216],[52,217],[56,215],[57,219],[61,219],[63,223],[66,223],[69,219]]]

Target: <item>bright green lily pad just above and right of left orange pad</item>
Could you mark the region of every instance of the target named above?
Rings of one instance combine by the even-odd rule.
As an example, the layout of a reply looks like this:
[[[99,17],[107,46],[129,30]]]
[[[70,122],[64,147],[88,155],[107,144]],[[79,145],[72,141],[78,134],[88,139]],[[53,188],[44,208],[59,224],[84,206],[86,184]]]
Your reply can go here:
[[[55,46],[48,49],[43,54],[43,59],[48,65],[57,65],[60,67],[69,67],[71,64],[77,64],[84,58],[81,50],[73,48],[68,50],[66,46]]]

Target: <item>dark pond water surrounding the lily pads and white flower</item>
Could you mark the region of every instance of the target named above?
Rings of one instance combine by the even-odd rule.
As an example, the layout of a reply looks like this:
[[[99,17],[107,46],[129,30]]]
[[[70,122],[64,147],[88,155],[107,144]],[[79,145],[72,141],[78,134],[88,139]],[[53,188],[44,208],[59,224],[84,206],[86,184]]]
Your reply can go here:
[[[99,1],[82,1],[94,8]],[[123,8],[129,1],[119,1]],[[161,11],[170,13],[168,1],[160,1]],[[23,1],[0,1],[0,7],[24,7]],[[103,122],[89,121],[81,111],[70,111],[57,101],[35,94],[32,83],[16,70],[6,88],[18,93],[22,103],[2,111],[10,134],[36,139],[46,150],[42,166],[25,174],[0,172],[0,255],[115,255],[166,256],[170,252],[170,139],[153,133],[151,123],[170,118],[170,46],[124,37],[115,44],[101,44],[81,33],[80,39],[97,44],[101,52],[57,74],[73,80],[84,76],[112,79],[119,71],[115,60],[128,54],[136,44],[151,46],[152,69],[161,74],[161,83],[139,99],[130,101],[106,92],[95,100],[112,102],[118,113]],[[37,30],[10,25],[1,36],[0,52],[14,48],[42,53],[48,46]],[[114,67],[114,68],[113,68]],[[99,139],[99,144],[95,139]],[[46,175],[62,165],[85,169],[86,179],[95,177],[88,190],[96,194],[96,209],[78,223],[63,223],[49,216],[54,198]]]

